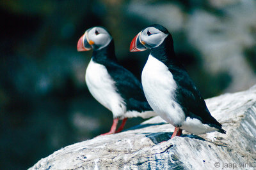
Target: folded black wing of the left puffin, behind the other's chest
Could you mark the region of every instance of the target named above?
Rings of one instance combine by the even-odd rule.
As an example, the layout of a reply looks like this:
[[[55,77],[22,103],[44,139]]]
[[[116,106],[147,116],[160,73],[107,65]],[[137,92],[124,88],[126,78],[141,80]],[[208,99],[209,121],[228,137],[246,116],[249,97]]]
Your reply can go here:
[[[116,62],[104,63],[108,73],[116,82],[116,89],[125,99],[127,110],[151,111],[140,81],[127,69]]]

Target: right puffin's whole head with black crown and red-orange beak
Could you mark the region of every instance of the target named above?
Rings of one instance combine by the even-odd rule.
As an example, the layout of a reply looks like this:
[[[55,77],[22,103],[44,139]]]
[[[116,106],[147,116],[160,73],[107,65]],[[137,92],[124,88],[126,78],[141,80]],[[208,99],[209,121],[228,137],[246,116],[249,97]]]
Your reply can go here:
[[[162,25],[150,25],[132,39],[130,52],[140,52],[147,50],[147,48],[156,48],[163,43],[169,34],[170,32]]]

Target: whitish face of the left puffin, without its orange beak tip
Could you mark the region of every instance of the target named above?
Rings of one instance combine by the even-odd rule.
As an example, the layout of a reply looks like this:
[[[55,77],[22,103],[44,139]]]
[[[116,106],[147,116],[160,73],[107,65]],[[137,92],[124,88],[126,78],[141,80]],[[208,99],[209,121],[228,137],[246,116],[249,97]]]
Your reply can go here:
[[[87,33],[84,34],[84,38],[88,41],[88,43],[95,50],[100,50],[107,46],[112,37],[109,35],[108,31],[106,31],[102,27],[93,27],[92,29],[88,29]]]

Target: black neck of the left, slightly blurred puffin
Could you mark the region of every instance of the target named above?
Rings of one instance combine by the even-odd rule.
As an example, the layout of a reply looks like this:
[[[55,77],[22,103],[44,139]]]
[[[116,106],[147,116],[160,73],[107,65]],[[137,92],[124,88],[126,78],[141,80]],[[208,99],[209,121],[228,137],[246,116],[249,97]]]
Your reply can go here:
[[[92,59],[93,61],[98,63],[105,62],[106,60],[112,60],[116,62],[117,60],[115,55],[115,45],[113,39],[104,48],[100,50],[93,50]]]

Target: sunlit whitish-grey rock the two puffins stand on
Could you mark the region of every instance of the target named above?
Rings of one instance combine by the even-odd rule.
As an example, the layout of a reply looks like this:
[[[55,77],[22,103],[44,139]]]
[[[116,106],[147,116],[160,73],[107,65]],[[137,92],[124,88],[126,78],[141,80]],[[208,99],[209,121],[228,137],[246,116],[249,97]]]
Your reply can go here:
[[[207,99],[206,103],[227,134],[195,136],[185,132],[170,139],[172,125],[154,117],[127,131],[61,148],[30,169],[256,167],[256,85],[244,92]]]

